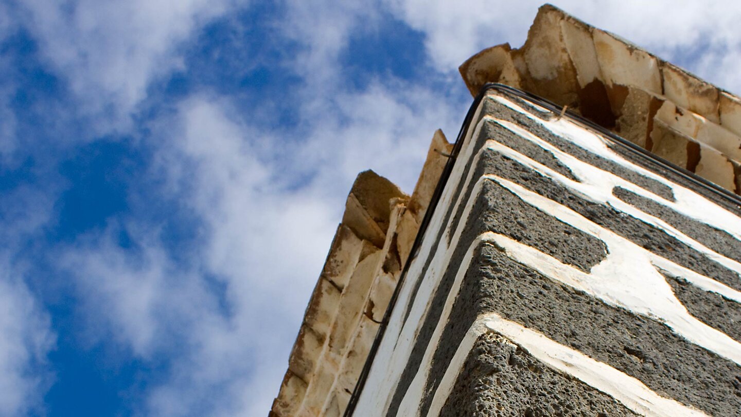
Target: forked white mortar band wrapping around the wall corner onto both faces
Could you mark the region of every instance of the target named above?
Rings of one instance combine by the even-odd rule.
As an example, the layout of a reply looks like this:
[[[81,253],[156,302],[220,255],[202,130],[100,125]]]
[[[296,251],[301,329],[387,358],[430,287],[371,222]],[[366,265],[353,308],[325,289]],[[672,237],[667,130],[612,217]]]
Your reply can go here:
[[[514,194],[518,195],[526,203],[544,211],[545,214],[550,214],[564,223],[571,224],[576,229],[580,229],[582,232],[591,234],[604,241],[605,245],[608,246],[610,255],[608,255],[605,261],[595,266],[591,274],[585,274],[585,272],[573,266],[565,265],[554,257],[501,234],[487,232],[477,237],[469,247],[462,264],[459,266],[456,278],[453,280],[453,286],[448,294],[448,299],[444,304],[439,324],[436,326],[431,341],[425,350],[425,356],[421,362],[422,366],[416,373],[399,407],[399,412],[397,413],[399,416],[414,416],[416,413],[419,413],[418,407],[420,401],[422,401],[426,381],[428,381],[432,357],[441,343],[440,338],[442,337],[442,332],[448,323],[462,279],[470,266],[473,251],[484,241],[496,243],[497,246],[505,249],[507,255],[514,260],[541,272],[548,278],[593,295],[610,305],[625,308],[636,314],[666,323],[691,343],[698,344],[701,347],[705,347],[705,349],[717,352],[719,355],[731,359],[731,361],[740,363],[741,344],[728,337],[728,335],[725,335],[725,333],[689,315],[685,307],[682,306],[682,303],[674,295],[671,286],[657,272],[651,261],[660,260],[662,265],[668,269],[674,269],[674,263],[651,254],[651,252],[637,246],[630,240],[592,223],[591,220],[582,217],[565,206],[561,206],[552,200],[548,200],[546,197],[540,196],[540,194],[536,194],[520,185],[494,175],[480,177],[476,185],[474,185],[471,196],[468,199],[468,204],[464,208],[464,213],[461,217],[462,221],[453,235],[451,250],[447,257],[448,260],[450,255],[452,255],[452,249],[456,248],[459,244],[460,234],[462,233],[462,229],[465,228],[465,219],[468,218],[473,208],[473,202],[482,192],[483,184],[488,180],[500,183],[505,188],[513,191]],[[706,279],[709,280],[709,278]],[[719,285],[721,284],[719,283]],[[734,291],[733,289],[728,290],[731,292]]]

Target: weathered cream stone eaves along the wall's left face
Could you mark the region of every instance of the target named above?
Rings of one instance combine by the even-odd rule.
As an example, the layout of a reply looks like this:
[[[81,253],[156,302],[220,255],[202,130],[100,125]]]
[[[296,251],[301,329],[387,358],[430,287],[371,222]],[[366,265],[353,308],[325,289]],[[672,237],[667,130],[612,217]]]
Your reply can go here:
[[[358,175],[306,309],[270,416],[342,416],[448,161],[437,131],[411,197]]]

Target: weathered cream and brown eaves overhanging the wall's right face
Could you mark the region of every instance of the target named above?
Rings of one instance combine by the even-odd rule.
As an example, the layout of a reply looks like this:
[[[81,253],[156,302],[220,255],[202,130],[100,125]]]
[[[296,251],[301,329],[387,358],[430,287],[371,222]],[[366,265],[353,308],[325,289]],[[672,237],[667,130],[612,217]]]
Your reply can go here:
[[[524,65],[514,65],[517,76],[506,75],[518,60]],[[708,149],[695,156],[690,171],[741,192],[734,168],[741,161],[738,97],[550,4],[539,9],[521,48],[482,50],[459,70],[473,95],[486,82],[522,88],[682,168],[685,142],[692,139]],[[665,128],[656,131],[658,121]],[[655,138],[663,139],[657,148]]]

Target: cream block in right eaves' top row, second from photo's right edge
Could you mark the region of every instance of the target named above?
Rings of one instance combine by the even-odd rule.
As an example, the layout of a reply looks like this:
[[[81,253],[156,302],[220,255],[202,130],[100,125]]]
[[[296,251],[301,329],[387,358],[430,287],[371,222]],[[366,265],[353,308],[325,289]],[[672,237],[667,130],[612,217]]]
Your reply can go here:
[[[662,63],[661,69],[666,98],[676,103],[678,107],[700,114],[711,122],[720,122],[718,88],[668,62]]]

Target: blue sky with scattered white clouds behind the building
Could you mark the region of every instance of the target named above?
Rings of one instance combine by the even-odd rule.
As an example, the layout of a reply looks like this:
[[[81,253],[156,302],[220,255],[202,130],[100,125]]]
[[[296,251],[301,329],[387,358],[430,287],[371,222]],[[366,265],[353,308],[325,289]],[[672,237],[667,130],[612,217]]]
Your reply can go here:
[[[741,91],[741,3],[556,5]],[[355,175],[538,6],[1,0],[0,416],[266,416]]]

